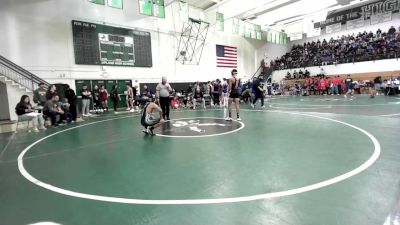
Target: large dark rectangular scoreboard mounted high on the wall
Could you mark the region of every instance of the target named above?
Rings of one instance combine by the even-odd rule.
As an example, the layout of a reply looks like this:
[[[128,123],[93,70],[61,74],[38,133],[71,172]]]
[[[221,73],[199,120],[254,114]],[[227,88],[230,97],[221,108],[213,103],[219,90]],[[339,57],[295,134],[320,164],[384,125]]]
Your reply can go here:
[[[153,66],[149,32],[73,20],[72,34],[75,64]]]

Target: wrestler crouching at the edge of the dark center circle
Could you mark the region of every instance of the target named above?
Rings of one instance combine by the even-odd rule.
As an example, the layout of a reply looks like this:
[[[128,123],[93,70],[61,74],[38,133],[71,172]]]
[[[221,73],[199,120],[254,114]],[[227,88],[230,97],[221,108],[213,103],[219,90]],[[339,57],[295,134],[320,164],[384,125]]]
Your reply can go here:
[[[153,111],[158,111],[160,113],[160,117],[154,118],[152,116]],[[153,102],[146,103],[143,108],[142,119],[140,121],[142,126],[144,126],[143,133],[154,135],[153,130],[165,123],[165,120],[162,119],[162,115],[162,109],[157,104]]]

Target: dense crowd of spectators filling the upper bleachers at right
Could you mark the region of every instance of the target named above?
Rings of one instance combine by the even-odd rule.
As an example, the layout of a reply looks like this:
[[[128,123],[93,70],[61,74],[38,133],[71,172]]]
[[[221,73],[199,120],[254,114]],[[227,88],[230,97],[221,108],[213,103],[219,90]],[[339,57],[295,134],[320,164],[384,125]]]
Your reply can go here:
[[[271,61],[274,70],[333,65],[361,61],[398,58],[400,55],[400,27],[387,32],[342,35],[336,39],[317,40],[295,45],[281,58]]]

